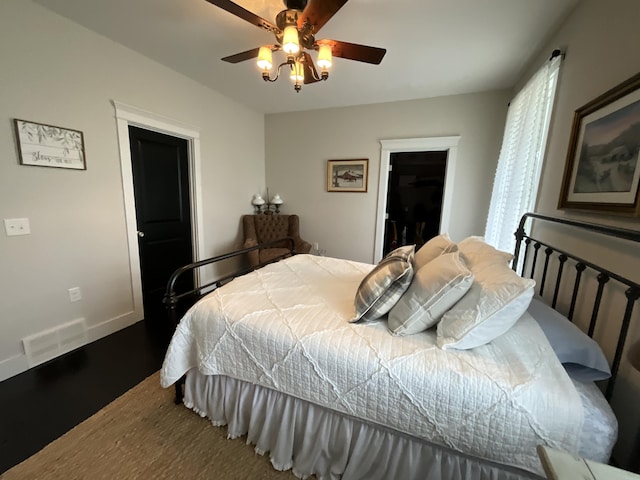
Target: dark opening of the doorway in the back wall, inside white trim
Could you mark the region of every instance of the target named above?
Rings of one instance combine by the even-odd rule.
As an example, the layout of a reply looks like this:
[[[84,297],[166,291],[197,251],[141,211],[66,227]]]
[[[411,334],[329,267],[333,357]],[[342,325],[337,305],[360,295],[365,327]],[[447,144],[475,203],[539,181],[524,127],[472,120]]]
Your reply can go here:
[[[389,167],[383,255],[440,233],[447,152],[394,152]]]

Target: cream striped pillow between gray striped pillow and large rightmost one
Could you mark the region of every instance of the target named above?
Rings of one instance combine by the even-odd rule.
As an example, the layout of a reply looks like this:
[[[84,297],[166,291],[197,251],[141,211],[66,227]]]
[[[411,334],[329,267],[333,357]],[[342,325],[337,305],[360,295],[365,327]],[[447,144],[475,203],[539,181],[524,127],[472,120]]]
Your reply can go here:
[[[409,289],[389,311],[389,330],[411,335],[434,326],[471,288],[473,274],[458,252],[440,255],[420,268]]]

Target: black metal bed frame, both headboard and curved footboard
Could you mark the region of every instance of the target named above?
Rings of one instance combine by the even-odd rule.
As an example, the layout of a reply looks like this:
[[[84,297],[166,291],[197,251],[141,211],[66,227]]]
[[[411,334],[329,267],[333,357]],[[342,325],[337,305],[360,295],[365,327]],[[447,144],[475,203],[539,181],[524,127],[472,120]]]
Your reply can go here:
[[[598,313],[600,311],[600,304],[601,304],[603,293],[605,292],[605,287],[609,284],[611,280],[614,280],[615,282],[618,282],[619,284],[622,284],[625,287],[627,287],[627,290],[625,293],[627,297],[627,304],[625,308],[624,317],[622,319],[622,326],[620,329],[620,333],[618,335],[618,341],[617,341],[613,362],[611,365],[611,378],[608,380],[606,392],[605,392],[605,397],[609,401],[611,399],[613,388],[616,383],[616,378],[617,378],[618,370],[620,367],[620,361],[622,359],[622,352],[624,349],[625,340],[629,330],[629,324],[631,322],[633,307],[635,305],[636,300],[640,298],[640,285],[633,282],[632,280],[624,278],[614,272],[611,272],[603,267],[600,267],[590,261],[584,260],[576,255],[567,253],[563,249],[556,248],[554,246],[549,245],[548,243],[545,243],[544,241],[531,237],[526,233],[524,228],[525,223],[528,219],[533,219],[543,223],[548,222],[551,224],[568,225],[571,227],[575,227],[577,229],[594,232],[596,234],[601,234],[604,236],[621,238],[621,239],[629,240],[635,243],[640,243],[640,232],[623,229],[623,228],[609,227],[609,226],[597,225],[593,223],[579,222],[579,221],[574,221],[574,220],[569,220],[564,218],[540,215],[537,213],[525,213],[520,220],[518,230],[515,232],[516,247],[515,247],[514,259],[512,263],[513,270],[517,271],[518,266],[521,265],[520,275],[524,277],[527,275],[527,272],[525,271],[526,267],[529,267],[528,276],[530,278],[534,278],[534,275],[536,273],[536,268],[540,263],[540,261],[542,261],[543,271],[542,271],[541,280],[538,283],[538,287],[539,287],[538,293],[540,295],[544,293],[544,289],[547,284],[547,280],[548,280],[547,277],[549,273],[550,262],[552,261],[553,258],[555,258],[554,255],[557,256],[558,269],[557,269],[556,278],[555,278],[555,289],[553,292],[553,300],[551,302],[551,307],[554,309],[556,309],[556,305],[558,301],[558,295],[559,295],[560,287],[562,284],[565,264],[567,263],[568,260],[571,260],[572,263],[575,264],[576,273],[575,273],[575,279],[574,279],[573,288],[572,288],[571,304],[569,307],[569,312],[567,314],[567,318],[569,318],[570,320],[573,319],[576,301],[578,298],[578,293],[582,285],[581,279],[583,278],[583,273],[588,269],[597,273],[598,291],[594,299],[593,309],[591,312],[591,321],[589,324],[589,330],[587,332],[587,334],[590,337],[593,337],[593,334],[596,328],[596,322],[598,320]],[[232,258],[241,258],[241,256],[245,255],[246,253],[254,250],[258,250],[261,248],[266,248],[270,246],[282,246],[283,242],[285,242],[288,245],[287,246],[288,251],[274,258],[269,262],[261,263],[251,268],[240,269],[234,273],[231,273],[229,275],[224,275],[221,278],[208,282],[204,285],[195,287],[192,290],[189,290],[186,292],[178,293],[176,291],[176,280],[181,275],[187,274],[189,272],[191,273],[191,275],[193,275],[194,272],[201,267],[212,265],[214,263],[222,262],[224,260],[228,260]],[[523,256],[520,257],[522,253],[523,243],[524,243],[524,253],[523,253]],[[542,258],[539,258],[541,256],[539,255],[539,253],[540,253],[540,249],[543,247],[544,247],[544,250],[543,250],[544,258],[542,259]],[[219,288],[220,286],[231,281],[235,277],[244,275],[257,268],[263,267],[268,263],[272,263],[272,262],[281,260],[283,258],[290,257],[295,254],[296,252],[294,249],[294,240],[291,237],[287,237],[285,239],[275,240],[272,242],[237,250],[224,255],[212,257],[206,260],[194,262],[179,268],[169,278],[165,296],[163,299],[163,303],[165,304],[165,307],[168,312],[169,321],[171,322],[172,325],[177,326],[179,321],[178,314],[177,314],[177,305],[181,300],[183,301],[188,300],[189,304],[193,304],[205,294],[215,290],[216,288]],[[531,254],[533,255],[532,257],[531,257]],[[175,403],[176,404],[179,404],[182,402],[183,384],[184,384],[184,377],[179,382],[176,382],[175,384],[175,389],[176,389]]]

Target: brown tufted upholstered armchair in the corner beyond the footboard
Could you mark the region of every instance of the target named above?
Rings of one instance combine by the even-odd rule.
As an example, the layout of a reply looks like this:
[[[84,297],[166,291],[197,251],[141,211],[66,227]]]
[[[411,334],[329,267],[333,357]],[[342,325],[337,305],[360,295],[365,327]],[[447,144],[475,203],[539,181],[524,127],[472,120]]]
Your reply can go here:
[[[244,247],[253,247],[260,243],[292,237],[296,253],[309,253],[311,244],[300,238],[300,218],[298,215],[245,215],[242,217],[244,227]],[[249,264],[252,267],[273,260],[287,252],[287,248],[263,248],[249,252]]]

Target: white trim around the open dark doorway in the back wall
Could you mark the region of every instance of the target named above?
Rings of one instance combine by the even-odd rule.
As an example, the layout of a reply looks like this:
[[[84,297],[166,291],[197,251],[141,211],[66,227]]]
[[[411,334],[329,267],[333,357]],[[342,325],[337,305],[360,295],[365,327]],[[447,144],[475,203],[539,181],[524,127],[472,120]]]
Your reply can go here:
[[[380,178],[378,183],[378,208],[376,211],[376,234],[374,240],[373,263],[382,259],[384,248],[384,226],[387,217],[387,190],[389,186],[389,165],[391,154],[396,152],[446,151],[447,167],[445,171],[444,192],[442,194],[442,214],[440,233],[449,230],[451,203],[453,201],[453,178],[455,177],[456,157],[460,135],[449,137],[400,138],[380,140]]]

